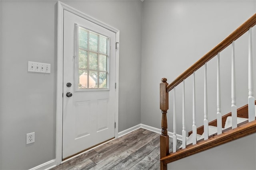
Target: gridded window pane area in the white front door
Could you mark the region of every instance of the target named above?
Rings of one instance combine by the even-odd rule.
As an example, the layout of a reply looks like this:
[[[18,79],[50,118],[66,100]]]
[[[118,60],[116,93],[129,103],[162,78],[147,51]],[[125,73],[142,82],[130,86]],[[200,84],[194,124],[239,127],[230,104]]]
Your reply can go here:
[[[108,89],[109,38],[77,25],[77,89]]]

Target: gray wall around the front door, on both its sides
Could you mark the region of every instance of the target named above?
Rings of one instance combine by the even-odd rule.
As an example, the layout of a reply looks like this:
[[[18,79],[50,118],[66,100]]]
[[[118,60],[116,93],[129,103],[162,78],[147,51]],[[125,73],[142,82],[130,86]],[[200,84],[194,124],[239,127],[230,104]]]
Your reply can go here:
[[[0,169],[29,169],[55,158],[57,1],[0,3]],[[64,3],[120,30],[118,128],[138,125],[142,2]],[[50,63],[51,73],[28,72],[28,61]],[[26,145],[30,132],[35,143]]]

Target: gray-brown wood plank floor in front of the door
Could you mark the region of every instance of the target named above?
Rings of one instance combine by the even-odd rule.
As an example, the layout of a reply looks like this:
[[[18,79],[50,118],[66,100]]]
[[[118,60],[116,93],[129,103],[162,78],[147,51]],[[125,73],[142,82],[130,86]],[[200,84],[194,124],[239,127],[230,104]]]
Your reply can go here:
[[[159,170],[160,134],[137,129],[52,170]],[[181,142],[177,141],[177,148]],[[170,138],[172,152],[172,138]]]

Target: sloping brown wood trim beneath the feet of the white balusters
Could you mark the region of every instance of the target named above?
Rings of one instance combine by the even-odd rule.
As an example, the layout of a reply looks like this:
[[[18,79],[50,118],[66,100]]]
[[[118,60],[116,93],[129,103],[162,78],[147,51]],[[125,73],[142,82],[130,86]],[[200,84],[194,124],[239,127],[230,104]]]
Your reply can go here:
[[[196,145],[190,145],[185,149],[180,149],[175,153],[170,153],[168,156],[164,156],[163,158],[161,158],[160,161],[163,164],[168,164],[170,162],[174,162],[192,154],[196,154],[198,152],[211,149],[213,147],[228,143],[238,138],[245,137],[252,133],[256,133],[256,121],[245,123],[237,127],[236,129],[230,129],[220,135],[214,135],[208,140],[200,141]]]

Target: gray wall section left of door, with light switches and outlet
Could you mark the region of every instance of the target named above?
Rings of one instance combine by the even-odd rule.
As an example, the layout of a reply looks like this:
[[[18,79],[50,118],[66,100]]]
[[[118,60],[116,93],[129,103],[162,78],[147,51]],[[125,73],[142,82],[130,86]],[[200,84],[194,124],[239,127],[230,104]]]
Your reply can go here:
[[[1,169],[29,169],[55,158],[56,2],[2,1]],[[51,74],[28,72],[28,61]],[[35,143],[26,145],[26,133]]]

